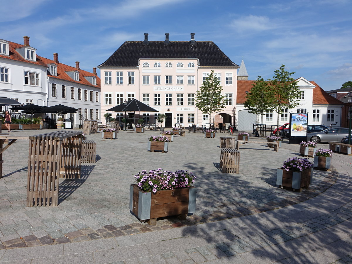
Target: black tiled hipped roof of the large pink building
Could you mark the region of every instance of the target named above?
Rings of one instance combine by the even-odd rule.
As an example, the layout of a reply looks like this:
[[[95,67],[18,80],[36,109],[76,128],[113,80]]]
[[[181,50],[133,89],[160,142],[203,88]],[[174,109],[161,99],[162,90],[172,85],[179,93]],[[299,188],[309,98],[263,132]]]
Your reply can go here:
[[[199,58],[203,67],[238,67],[212,41],[126,41],[99,67],[136,67],[139,58]]]

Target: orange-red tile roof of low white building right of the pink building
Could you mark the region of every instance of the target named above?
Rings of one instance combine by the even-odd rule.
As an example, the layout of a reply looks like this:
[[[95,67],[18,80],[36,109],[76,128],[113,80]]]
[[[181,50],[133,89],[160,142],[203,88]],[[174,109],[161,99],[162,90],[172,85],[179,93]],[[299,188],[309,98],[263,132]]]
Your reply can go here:
[[[237,81],[237,104],[244,104],[246,101],[246,91],[249,92],[251,90],[253,83],[254,81]],[[315,88],[313,88],[314,105],[343,105],[340,100],[326,93],[318,84],[313,81],[310,81],[310,83],[315,85]]]

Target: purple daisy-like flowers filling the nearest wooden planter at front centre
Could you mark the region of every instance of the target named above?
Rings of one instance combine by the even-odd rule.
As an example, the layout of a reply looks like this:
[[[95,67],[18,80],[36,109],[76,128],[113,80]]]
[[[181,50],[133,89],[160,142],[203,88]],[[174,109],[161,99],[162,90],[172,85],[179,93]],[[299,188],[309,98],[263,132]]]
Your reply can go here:
[[[156,193],[160,190],[174,190],[190,187],[196,176],[188,170],[166,171],[162,168],[157,170],[142,170],[134,176],[139,189]]]

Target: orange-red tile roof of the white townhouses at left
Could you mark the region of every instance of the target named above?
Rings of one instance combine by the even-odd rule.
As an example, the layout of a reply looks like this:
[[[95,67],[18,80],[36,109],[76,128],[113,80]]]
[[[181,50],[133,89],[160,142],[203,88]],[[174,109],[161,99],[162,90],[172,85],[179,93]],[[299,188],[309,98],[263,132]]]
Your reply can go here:
[[[84,85],[87,85],[87,86],[92,86],[92,87],[100,89],[100,78],[98,76],[94,75],[93,73],[90,73],[89,71],[78,70],[75,67],[71,67],[71,66],[68,66],[68,65],[63,64],[63,63],[56,63],[54,60],[47,59],[47,58],[44,58],[44,57],[40,57],[38,55],[36,55],[36,61],[27,60],[27,59],[23,58],[15,50],[17,48],[24,47],[24,45],[21,45],[21,44],[18,44],[18,43],[14,43],[14,42],[11,42],[11,41],[8,41],[8,40],[6,40],[6,41],[8,42],[8,46],[9,46],[8,47],[9,56],[0,54],[0,58],[12,59],[14,61],[26,62],[26,63],[36,64],[36,65],[40,65],[40,66],[44,66],[44,67],[48,67],[47,64],[53,64],[54,63],[54,64],[57,65],[57,76],[51,75],[48,72],[48,76],[49,77],[57,78],[57,79],[65,80],[65,81],[69,81],[69,82],[74,82],[74,83],[80,83],[80,84],[84,84]],[[68,76],[67,73],[65,73],[65,71],[78,71],[80,73],[80,81],[75,81],[70,76]],[[90,76],[95,76],[96,77],[96,85],[93,85],[92,83],[87,81],[86,78],[84,78],[84,77],[90,77]]]

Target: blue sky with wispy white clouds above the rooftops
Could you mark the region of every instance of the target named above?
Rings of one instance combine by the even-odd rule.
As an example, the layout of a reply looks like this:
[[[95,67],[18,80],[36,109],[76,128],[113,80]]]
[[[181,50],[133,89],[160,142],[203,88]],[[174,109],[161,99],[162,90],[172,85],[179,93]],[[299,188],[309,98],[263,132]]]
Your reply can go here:
[[[350,0],[0,0],[0,39],[92,72],[125,41],[213,41],[249,80],[292,77],[324,90],[352,80]],[[100,71],[98,70],[98,75]]]

